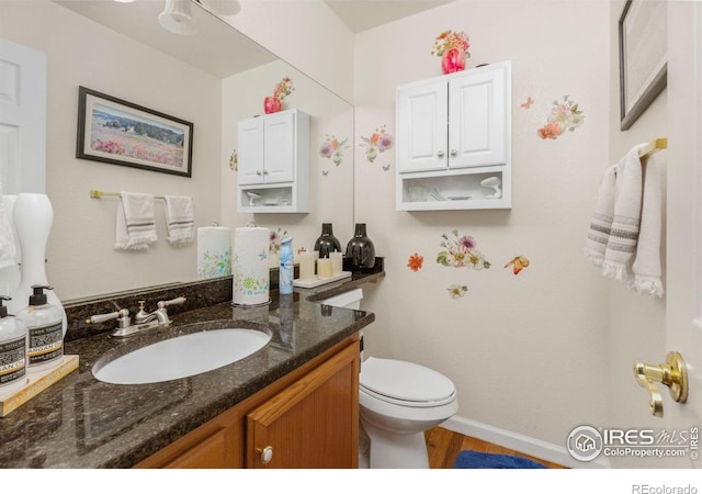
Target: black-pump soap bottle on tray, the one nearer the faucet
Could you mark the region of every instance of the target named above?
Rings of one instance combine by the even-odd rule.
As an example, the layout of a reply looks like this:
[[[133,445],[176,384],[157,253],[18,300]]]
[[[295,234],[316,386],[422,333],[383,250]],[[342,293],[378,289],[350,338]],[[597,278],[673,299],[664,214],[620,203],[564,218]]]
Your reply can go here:
[[[64,313],[46,301],[43,284],[32,285],[30,305],[18,313],[26,326],[26,371],[44,371],[64,361]]]

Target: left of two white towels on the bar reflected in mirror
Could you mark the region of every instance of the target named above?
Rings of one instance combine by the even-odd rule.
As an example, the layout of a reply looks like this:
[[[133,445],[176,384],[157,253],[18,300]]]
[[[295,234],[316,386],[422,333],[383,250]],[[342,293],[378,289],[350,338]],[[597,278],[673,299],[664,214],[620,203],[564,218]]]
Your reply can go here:
[[[117,206],[117,242],[115,249],[144,250],[156,242],[154,195],[121,192],[122,206]]]

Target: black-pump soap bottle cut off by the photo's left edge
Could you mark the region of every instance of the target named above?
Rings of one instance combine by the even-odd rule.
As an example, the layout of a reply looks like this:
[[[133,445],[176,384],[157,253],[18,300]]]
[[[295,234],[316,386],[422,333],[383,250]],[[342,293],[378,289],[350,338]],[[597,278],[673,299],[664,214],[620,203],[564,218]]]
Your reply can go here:
[[[7,300],[0,295],[0,396],[26,384],[26,327],[8,315]]]

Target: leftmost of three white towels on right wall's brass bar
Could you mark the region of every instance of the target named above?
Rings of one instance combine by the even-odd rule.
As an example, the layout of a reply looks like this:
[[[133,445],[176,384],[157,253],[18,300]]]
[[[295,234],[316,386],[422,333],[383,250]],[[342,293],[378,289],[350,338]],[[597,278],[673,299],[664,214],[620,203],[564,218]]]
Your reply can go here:
[[[616,165],[604,170],[597,192],[595,213],[585,243],[585,255],[595,265],[602,266],[607,243],[612,232],[614,217],[614,195],[616,181]]]

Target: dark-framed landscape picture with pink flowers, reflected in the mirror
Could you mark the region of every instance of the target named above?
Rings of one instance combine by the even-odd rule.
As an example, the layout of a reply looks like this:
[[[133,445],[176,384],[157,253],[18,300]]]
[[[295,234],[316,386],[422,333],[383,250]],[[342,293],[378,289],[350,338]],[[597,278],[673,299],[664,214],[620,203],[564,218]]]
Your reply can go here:
[[[190,178],[192,150],[191,122],[79,87],[77,158]]]

